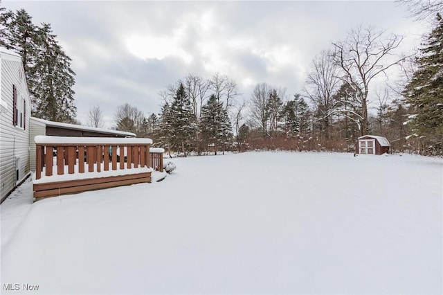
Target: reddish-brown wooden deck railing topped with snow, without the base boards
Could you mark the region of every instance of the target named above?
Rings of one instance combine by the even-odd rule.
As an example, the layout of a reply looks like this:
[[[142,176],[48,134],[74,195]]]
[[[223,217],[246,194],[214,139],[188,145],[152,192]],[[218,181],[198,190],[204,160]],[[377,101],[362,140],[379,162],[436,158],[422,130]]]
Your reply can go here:
[[[40,179],[43,171],[46,177],[52,176],[55,168],[57,175],[64,175],[65,166],[68,174],[138,167],[152,167],[162,172],[163,153],[153,153],[154,161],[151,144],[149,138],[35,136],[35,179]]]

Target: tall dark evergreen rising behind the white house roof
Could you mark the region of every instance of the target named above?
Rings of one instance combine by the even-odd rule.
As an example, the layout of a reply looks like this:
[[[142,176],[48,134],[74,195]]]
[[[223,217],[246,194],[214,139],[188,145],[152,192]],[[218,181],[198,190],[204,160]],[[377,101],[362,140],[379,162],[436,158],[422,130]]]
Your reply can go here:
[[[32,102],[38,118],[76,123],[75,73],[71,58],[64,53],[50,24],[35,26],[26,10],[1,10],[0,43],[21,55]]]

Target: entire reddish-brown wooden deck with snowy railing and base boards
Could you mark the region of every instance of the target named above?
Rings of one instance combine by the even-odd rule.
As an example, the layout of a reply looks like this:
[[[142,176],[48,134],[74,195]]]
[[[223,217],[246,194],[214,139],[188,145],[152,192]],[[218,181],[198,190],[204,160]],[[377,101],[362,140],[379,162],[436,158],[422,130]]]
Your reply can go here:
[[[150,182],[153,170],[163,172],[163,152],[150,152],[148,138],[36,136],[35,143],[36,201]]]

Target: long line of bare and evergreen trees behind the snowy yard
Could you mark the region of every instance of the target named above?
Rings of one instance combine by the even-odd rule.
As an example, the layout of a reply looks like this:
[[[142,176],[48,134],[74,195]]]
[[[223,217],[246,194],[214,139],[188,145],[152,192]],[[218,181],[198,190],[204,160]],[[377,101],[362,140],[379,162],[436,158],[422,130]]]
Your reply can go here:
[[[249,98],[235,80],[188,74],[161,91],[160,114],[122,116],[116,128],[150,136],[175,152],[353,151],[356,138],[386,136],[395,152],[442,154],[443,21],[419,53],[401,55],[402,36],[358,26],[311,62],[305,88],[288,95],[266,82]],[[397,75],[398,81],[390,80]],[[383,87],[380,87],[380,85]],[[372,96],[370,95],[372,93]],[[371,101],[372,100],[372,101]]]

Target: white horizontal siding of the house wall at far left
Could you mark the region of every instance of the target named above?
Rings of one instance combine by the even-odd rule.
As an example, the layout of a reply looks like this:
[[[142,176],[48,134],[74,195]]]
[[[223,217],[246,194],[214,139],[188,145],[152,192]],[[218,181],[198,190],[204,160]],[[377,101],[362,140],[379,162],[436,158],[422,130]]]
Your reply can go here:
[[[30,98],[21,59],[0,51],[1,100],[8,109],[0,113],[0,199],[3,200],[29,173]],[[12,124],[12,84],[17,87],[17,102],[26,101],[26,129]],[[17,166],[16,166],[16,159]],[[16,168],[19,170],[17,177]]]

